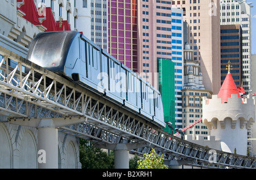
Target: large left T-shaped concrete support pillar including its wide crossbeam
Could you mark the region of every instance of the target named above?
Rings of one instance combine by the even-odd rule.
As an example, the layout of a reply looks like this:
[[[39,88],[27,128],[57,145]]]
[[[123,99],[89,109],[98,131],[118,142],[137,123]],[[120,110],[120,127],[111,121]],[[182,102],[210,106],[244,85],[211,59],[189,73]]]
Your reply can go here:
[[[9,119],[13,125],[38,129],[38,168],[57,169],[58,164],[58,128],[85,122],[85,118],[46,118],[46,119]]]

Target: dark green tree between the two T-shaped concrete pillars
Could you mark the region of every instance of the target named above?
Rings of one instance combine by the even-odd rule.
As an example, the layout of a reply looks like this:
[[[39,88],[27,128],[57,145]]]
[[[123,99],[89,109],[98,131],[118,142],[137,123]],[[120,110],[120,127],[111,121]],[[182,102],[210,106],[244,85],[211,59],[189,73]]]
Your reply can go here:
[[[110,155],[95,148],[92,143],[80,139],[80,162],[82,169],[113,169],[114,168],[114,152]]]

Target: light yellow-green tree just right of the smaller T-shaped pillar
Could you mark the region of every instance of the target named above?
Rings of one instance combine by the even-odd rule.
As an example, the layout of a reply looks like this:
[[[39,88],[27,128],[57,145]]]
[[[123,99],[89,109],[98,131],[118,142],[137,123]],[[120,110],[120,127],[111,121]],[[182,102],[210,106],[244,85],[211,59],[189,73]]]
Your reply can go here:
[[[163,156],[159,156],[152,148],[150,153],[143,155],[143,160],[138,161],[138,169],[168,169],[168,166],[163,164],[163,160]]]

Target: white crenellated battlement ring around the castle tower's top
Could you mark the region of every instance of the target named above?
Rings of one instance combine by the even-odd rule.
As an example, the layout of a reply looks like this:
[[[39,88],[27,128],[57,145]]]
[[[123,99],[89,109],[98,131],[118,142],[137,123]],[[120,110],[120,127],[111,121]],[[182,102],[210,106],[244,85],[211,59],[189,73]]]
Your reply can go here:
[[[240,98],[238,95],[232,95],[225,103],[218,95],[213,95],[212,99],[204,98],[203,122],[209,130],[217,128],[216,121],[220,122],[221,128],[225,128],[226,119],[232,120],[232,128],[238,121],[240,128],[249,128],[255,122],[254,104],[254,97]]]

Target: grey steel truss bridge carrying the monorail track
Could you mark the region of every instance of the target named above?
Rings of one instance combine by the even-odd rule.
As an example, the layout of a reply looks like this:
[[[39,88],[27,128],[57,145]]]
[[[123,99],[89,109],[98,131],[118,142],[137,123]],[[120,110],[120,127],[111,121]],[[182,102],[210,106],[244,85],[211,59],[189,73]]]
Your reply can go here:
[[[130,150],[143,156],[154,148],[166,160],[202,168],[256,168],[255,158],[226,153],[177,138],[95,92],[53,74],[0,47],[0,114],[14,121],[50,118],[67,126],[60,132],[96,144],[139,143]],[[9,59],[12,59],[10,66]],[[0,59],[1,60],[1,59]],[[213,161],[209,161],[215,157]]]

